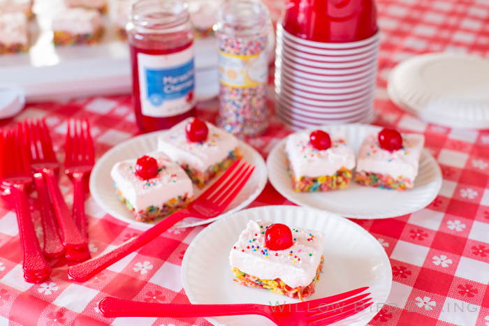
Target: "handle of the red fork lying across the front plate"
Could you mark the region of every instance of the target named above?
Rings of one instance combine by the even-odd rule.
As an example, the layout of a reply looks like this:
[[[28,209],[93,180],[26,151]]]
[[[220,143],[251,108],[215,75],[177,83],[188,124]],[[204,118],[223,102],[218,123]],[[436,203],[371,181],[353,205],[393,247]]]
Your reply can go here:
[[[103,316],[112,317],[212,317],[267,316],[259,304],[156,304],[105,297],[98,304]]]

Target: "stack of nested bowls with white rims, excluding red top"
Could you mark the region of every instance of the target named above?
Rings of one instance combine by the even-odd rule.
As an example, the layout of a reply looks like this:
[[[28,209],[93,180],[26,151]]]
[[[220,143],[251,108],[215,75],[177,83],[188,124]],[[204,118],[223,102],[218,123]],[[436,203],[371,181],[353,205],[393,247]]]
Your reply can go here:
[[[277,115],[294,128],[368,122],[373,117],[380,33],[365,40],[321,43],[277,23]]]

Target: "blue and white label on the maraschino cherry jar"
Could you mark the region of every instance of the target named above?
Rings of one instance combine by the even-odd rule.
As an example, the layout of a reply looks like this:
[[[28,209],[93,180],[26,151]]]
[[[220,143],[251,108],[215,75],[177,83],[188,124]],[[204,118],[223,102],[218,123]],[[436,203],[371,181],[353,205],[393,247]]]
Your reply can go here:
[[[194,108],[194,45],[170,54],[138,53],[141,112],[173,117]]]

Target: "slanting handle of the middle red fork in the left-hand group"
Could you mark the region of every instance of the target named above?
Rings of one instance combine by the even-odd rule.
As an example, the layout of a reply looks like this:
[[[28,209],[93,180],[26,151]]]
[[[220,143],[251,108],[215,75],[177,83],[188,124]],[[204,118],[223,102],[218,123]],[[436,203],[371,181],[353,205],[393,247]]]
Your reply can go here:
[[[63,237],[63,244],[66,247],[73,247],[75,249],[80,249],[87,246],[87,240],[83,237],[80,230],[75,224],[75,220],[64,202],[63,195],[59,190],[58,181],[56,175],[54,175],[54,170],[43,169],[43,175],[46,179],[46,184],[48,184],[48,189],[52,198],[52,205],[54,206],[54,212],[56,212],[56,217],[58,218],[59,228],[61,229],[61,235]]]

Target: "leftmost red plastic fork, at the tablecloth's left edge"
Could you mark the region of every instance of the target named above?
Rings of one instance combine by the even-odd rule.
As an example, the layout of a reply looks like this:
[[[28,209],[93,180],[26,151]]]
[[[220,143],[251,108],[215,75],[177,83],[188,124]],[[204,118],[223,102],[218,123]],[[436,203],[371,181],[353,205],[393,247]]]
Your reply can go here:
[[[0,179],[13,198],[19,225],[20,243],[24,252],[24,279],[29,283],[39,283],[51,274],[51,267],[46,262],[39,246],[32,223],[26,188],[32,183],[31,168],[25,147],[16,132],[3,136],[0,131]]]

